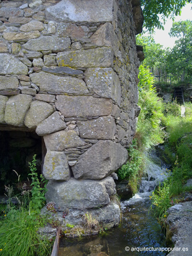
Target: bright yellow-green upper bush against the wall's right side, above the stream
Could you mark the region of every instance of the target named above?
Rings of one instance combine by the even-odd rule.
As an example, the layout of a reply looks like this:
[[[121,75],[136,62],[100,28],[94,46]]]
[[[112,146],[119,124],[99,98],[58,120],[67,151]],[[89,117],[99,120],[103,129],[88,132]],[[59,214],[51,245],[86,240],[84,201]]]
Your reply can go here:
[[[148,68],[139,68],[139,102],[141,107],[137,125],[139,145],[150,148],[163,142],[164,132],[160,129],[163,117],[163,101],[157,96],[154,88],[154,78]]]

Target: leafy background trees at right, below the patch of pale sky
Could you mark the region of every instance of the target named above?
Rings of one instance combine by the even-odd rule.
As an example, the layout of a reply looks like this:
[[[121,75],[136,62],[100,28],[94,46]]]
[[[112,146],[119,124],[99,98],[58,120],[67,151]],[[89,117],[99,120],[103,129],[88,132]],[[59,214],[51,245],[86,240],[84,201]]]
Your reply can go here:
[[[137,36],[137,44],[144,46],[145,59],[143,64],[148,66],[154,76],[166,79],[171,76],[174,83],[192,82],[192,21],[174,22],[170,36],[176,36],[175,46],[163,49],[156,44],[153,36]]]

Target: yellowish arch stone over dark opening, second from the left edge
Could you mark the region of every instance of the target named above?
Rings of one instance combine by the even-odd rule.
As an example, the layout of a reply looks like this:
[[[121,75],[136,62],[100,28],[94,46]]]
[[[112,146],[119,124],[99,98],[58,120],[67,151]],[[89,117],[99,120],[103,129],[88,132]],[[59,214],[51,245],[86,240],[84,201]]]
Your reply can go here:
[[[5,107],[5,122],[14,126],[23,126],[24,117],[29,109],[32,96],[18,94],[9,97]]]

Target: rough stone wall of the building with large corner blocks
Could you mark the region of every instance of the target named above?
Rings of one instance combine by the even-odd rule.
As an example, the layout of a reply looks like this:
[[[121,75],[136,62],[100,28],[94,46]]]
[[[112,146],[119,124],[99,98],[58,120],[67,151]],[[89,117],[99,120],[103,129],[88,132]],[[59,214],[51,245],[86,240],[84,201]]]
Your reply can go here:
[[[44,137],[47,201],[112,205],[118,224],[110,175],[135,133],[140,1],[0,2],[0,129]]]

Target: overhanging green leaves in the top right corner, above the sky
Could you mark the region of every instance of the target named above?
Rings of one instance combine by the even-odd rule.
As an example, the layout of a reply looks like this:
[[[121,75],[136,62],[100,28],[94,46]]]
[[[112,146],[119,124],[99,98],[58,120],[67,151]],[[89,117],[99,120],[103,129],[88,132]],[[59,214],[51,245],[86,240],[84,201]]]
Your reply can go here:
[[[155,27],[164,29],[163,23],[169,17],[181,14],[181,9],[192,0],[141,0],[141,7],[144,14],[144,27],[153,31]],[[159,16],[163,22],[159,20]]]

